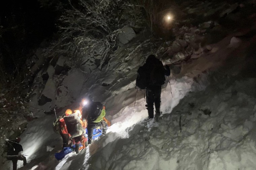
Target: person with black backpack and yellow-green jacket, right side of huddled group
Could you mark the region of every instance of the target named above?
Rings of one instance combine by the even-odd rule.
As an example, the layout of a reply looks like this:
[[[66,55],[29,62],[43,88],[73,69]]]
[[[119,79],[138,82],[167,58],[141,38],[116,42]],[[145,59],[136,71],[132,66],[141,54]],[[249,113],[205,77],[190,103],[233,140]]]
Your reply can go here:
[[[100,102],[93,102],[91,96],[87,97],[88,104],[83,108],[83,117],[87,119],[88,144],[92,143],[93,130],[97,127],[102,127],[102,132],[106,133],[106,115],[105,106]]]

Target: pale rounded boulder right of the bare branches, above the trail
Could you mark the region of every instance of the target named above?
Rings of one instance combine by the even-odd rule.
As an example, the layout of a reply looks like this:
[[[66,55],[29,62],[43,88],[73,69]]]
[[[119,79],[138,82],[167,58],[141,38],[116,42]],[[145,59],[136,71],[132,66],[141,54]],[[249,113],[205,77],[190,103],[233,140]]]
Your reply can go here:
[[[129,26],[124,26],[118,35],[119,45],[127,44],[134,37],[136,37],[136,33],[134,32],[134,30]]]

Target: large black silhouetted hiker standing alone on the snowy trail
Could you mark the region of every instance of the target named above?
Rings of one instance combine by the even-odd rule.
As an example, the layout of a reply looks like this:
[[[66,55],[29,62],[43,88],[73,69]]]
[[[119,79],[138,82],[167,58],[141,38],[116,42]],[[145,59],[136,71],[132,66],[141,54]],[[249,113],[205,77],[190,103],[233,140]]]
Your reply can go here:
[[[146,78],[146,101],[149,118],[154,118],[154,103],[156,108],[156,118],[161,114],[161,86],[164,84],[165,75],[170,75],[170,69],[167,65],[157,59],[154,55],[149,55],[146,63],[138,69],[138,74]]]

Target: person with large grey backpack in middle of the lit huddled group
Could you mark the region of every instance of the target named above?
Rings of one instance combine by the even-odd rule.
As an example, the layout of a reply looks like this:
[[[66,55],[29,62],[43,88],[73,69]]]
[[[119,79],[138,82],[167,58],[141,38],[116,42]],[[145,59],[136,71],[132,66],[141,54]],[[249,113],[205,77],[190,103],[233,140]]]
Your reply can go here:
[[[66,123],[67,131],[75,143],[75,152],[78,154],[80,143],[83,141],[83,127],[80,123],[79,115],[77,113],[70,112],[68,116],[63,119]]]

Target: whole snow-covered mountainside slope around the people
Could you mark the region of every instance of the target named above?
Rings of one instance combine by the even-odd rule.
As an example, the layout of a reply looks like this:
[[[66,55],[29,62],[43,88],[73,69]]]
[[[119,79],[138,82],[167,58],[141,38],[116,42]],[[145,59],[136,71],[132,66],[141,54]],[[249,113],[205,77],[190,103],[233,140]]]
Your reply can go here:
[[[241,18],[242,23],[251,23],[255,15],[247,18],[242,13],[238,17],[240,13],[233,9],[247,12],[251,8],[248,4],[245,8],[243,4],[232,2],[235,5],[230,6],[224,1],[188,3],[181,6],[188,15],[173,29],[174,39],[146,38],[141,32],[113,51],[101,71],[72,68],[55,74],[57,66],[64,67],[69,62],[62,57],[55,66],[45,65],[32,86],[30,105],[38,119],[29,122],[21,136],[29,164],[20,169],[255,169],[255,80],[208,75],[223,66],[236,75],[251,62],[247,55],[255,54],[250,54],[248,48],[255,47],[255,26],[234,25]],[[213,14],[220,18],[212,18]],[[227,19],[223,20],[223,16]],[[223,22],[228,20],[236,22],[227,26]],[[194,26],[182,26],[190,23]],[[143,92],[136,95],[134,88],[136,71],[151,53],[171,65],[173,75],[173,98],[166,80],[161,96],[164,115],[158,123],[146,120],[146,100]],[[38,65],[44,64],[37,61],[34,70]],[[46,74],[49,78],[44,80]],[[209,83],[206,77],[210,86],[205,90]],[[59,162],[54,158],[61,149],[61,137],[52,130],[55,115],[42,111],[49,114],[55,107],[65,110],[86,94],[107,106],[113,125],[106,136],[85,151],[71,153]],[[38,106],[42,96],[51,101]],[[54,149],[50,151],[51,148]],[[22,162],[18,163],[21,167]]]

